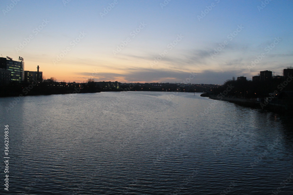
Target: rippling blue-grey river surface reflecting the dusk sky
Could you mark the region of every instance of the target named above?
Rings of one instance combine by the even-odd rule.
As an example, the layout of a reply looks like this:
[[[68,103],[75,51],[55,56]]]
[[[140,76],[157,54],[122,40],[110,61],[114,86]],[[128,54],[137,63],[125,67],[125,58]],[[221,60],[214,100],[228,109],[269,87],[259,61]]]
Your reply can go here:
[[[193,93],[27,96],[6,112],[11,101],[0,120],[18,194],[293,191],[290,118]]]

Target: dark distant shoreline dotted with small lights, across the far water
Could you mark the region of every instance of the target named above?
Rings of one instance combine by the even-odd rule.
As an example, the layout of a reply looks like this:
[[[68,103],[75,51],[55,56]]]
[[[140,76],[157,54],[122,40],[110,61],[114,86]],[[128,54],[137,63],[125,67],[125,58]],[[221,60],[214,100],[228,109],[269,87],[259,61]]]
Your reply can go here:
[[[49,82],[8,83],[0,85],[0,97],[35,96],[53,94],[76,94],[122,91],[157,92],[208,92],[219,85],[213,84],[174,84],[174,83],[124,83],[118,82]]]

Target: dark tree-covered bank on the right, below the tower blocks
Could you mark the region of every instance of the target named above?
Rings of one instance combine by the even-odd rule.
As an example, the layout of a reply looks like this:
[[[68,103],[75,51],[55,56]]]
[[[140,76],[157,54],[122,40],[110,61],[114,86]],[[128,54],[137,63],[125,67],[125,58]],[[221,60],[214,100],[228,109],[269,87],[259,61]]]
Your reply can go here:
[[[284,115],[293,113],[292,75],[265,80],[246,80],[233,77],[219,88],[201,94],[214,100],[228,101],[240,106],[262,109]],[[217,95],[216,95],[217,94]]]

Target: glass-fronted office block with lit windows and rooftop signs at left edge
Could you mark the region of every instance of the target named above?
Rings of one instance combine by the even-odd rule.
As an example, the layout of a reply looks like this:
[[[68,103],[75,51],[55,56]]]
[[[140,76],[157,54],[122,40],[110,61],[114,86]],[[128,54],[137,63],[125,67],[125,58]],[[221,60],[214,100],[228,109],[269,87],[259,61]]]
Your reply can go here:
[[[14,61],[8,56],[6,58],[0,58],[0,69],[2,69],[1,82],[6,82],[7,76],[9,77],[8,82],[21,82],[24,80],[24,61],[21,57],[19,57],[18,60],[19,61]],[[9,72],[4,70],[8,70]],[[10,75],[8,75],[8,73],[10,73]]]

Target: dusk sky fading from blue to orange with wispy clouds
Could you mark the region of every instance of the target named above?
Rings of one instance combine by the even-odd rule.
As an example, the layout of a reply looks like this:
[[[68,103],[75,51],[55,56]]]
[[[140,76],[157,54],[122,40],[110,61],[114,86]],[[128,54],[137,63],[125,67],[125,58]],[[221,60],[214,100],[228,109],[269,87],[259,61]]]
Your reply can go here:
[[[1,0],[0,55],[57,81],[223,84],[293,65],[292,0]]]

